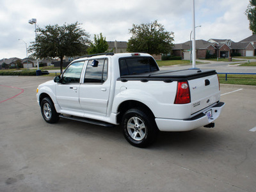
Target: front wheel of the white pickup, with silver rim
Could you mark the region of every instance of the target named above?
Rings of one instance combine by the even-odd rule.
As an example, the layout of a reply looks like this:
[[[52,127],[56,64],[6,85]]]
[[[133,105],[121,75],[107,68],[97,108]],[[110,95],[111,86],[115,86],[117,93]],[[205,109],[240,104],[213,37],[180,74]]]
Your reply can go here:
[[[52,103],[52,100],[49,99],[49,97],[45,97],[41,102],[41,113],[44,117],[45,122],[49,124],[54,124],[58,122],[60,119],[59,113],[56,112],[56,109],[54,108],[54,104]]]

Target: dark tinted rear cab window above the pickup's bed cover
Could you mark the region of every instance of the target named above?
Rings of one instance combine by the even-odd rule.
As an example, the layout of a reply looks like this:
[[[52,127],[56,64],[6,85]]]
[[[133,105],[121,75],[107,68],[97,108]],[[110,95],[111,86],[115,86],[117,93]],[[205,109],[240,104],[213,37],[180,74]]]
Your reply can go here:
[[[121,58],[119,60],[120,76],[142,74],[159,70],[156,61],[150,57]]]

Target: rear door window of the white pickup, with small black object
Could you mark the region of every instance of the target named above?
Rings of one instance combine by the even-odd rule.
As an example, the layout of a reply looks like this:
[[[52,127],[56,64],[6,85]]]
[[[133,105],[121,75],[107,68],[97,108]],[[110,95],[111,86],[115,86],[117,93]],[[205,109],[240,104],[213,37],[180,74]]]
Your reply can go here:
[[[97,65],[93,65],[93,63],[97,63]],[[104,83],[107,79],[108,60],[89,60],[84,76],[84,83]]]

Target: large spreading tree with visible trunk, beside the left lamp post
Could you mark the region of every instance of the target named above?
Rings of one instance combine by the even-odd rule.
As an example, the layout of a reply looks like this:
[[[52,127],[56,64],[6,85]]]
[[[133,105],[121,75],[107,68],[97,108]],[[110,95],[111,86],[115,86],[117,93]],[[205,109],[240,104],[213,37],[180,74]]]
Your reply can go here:
[[[86,54],[90,44],[88,33],[79,27],[79,23],[64,24],[63,26],[45,26],[38,28],[35,42],[29,47],[36,58],[60,58],[60,71],[63,71],[64,56],[81,56]]]

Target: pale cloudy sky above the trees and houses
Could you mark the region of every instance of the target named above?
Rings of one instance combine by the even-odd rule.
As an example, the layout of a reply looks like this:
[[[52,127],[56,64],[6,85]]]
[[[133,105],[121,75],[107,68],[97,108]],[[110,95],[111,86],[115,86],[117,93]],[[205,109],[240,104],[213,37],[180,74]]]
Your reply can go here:
[[[210,38],[239,42],[252,35],[244,14],[249,0],[195,0],[196,40]],[[35,40],[36,25],[72,24],[107,41],[128,41],[132,24],[157,20],[174,33],[174,44],[189,40],[193,0],[0,0],[0,60],[26,58],[26,44]],[[19,40],[21,39],[21,40]],[[26,42],[26,44],[25,44]]]

